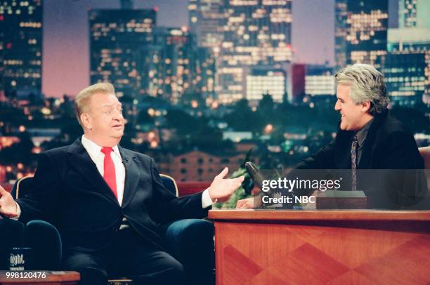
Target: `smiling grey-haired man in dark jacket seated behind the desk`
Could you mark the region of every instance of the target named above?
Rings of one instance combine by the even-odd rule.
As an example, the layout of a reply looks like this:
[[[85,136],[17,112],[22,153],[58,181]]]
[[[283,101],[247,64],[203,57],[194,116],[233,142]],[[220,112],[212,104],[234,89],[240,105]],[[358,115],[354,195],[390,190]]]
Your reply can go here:
[[[303,175],[303,169],[318,169],[313,173],[320,177],[350,169],[348,190],[363,190],[374,208],[419,203],[427,192],[424,162],[413,135],[389,114],[383,75],[371,65],[355,64],[341,69],[336,80],[334,109],[341,114],[336,138],[297,164],[287,178]],[[237,201],[237,208],[252,207],[254,199]]]

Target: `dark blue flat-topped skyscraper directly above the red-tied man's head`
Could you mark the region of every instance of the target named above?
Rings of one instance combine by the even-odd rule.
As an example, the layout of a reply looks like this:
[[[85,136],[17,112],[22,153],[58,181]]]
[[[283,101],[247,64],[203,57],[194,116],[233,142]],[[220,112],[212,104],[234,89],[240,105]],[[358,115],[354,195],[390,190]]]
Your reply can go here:
[[[109,81],[127,98],[148,94],[157,77],[155,19],[153,9],[89,11],[91,84]]]

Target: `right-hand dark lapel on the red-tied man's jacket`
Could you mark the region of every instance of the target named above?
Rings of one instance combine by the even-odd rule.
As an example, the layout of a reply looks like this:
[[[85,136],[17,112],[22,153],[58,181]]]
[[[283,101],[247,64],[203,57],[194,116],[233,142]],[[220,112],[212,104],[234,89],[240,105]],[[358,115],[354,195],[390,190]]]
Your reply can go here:
[[[126,150],[122,147],[119,148],[119,153],[122,157],[122,163],[126,169],[125,185],[124,185],[124,197],[122,199],[122,208],[125,208],[133,198],[138,188],[139,182],[139,167],[138,160],[133,152]]]

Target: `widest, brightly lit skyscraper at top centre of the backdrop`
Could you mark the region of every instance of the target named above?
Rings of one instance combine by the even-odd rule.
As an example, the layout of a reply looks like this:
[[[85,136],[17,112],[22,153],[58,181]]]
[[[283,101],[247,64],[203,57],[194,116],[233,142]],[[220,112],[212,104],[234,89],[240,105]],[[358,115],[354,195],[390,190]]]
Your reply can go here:
[[[190,27],[216,56],[219,102],[245,98],[252,67],[282,68],[292,58],[292,0],[190,0]]]

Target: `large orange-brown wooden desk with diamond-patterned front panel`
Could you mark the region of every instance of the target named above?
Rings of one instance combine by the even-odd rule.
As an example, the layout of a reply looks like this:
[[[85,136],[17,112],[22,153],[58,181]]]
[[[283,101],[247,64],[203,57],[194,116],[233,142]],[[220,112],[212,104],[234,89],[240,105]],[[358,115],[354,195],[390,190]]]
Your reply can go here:
[[[209,211],[216,284],[429,284],[430,211]]]

